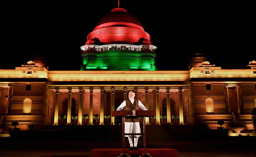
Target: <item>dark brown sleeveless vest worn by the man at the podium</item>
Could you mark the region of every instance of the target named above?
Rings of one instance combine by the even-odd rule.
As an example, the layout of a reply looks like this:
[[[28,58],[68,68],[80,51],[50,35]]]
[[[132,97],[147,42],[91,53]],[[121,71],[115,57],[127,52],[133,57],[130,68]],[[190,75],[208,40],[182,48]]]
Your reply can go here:
[[[126,107],[124,110],[141,110],[138,106],[138,99],[134,99],[134,104],[132,104],[130,99],[126,99]],[[135,105],[136,104],[136,105]],[[139,122],[139,117],[131,118],[125,117],[124,122]]]

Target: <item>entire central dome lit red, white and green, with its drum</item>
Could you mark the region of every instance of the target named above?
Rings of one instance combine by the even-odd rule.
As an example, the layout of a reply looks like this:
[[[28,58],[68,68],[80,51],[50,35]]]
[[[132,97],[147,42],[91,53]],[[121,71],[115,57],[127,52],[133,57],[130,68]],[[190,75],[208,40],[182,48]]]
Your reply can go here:
[[[156,70],[157,47],[150,42],[150,35],[134,16],[119,7],[98,21],[80,48],[80,70]]]

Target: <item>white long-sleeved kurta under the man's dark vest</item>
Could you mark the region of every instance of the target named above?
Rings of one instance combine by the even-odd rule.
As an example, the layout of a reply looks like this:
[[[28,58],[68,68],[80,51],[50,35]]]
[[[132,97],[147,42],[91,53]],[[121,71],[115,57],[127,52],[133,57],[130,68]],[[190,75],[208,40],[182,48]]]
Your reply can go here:
[[[131,100],[131,99],[130,99]],[[131,100],[132,104],[134,104],[134,99]],[[147,110],[147,108],[142,104],[140,100],[138,100],[138,105],[141,110]],[[118,110],[122,110],[126,106],[126,101],[124,100],[122,104],[117,108]],[[124,122],[124,133],[141,133],[141,127],[139,126],[139,122]],[[125,135],[125,137],[132,135]],[[135,135],[134,137],[140,137],[141,135]]]

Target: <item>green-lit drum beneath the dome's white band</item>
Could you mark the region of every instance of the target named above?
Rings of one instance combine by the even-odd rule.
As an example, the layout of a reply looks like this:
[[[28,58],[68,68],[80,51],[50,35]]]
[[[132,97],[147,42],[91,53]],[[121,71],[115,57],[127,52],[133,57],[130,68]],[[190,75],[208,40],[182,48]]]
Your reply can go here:
[[[128,51],[120,54],[120,50],[109,50],[104,53],[89,53],[83,54],[83,67],[81,70],[145,70],[154,71],[155,53],[136,53]],[[133,58],[133,60],[129,60]]]

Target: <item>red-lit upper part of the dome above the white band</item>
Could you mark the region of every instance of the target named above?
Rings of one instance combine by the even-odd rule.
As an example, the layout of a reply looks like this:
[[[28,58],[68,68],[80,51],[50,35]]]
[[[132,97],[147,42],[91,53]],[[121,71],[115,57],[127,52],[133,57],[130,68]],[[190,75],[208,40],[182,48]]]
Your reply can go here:
[[[150,35],[144,31],[141,23],[125,9],[115,8],[96,24],[87,36],[88,44],[134,44],[143,39],[141,44],[152,44]]]

